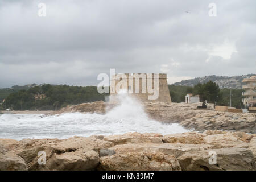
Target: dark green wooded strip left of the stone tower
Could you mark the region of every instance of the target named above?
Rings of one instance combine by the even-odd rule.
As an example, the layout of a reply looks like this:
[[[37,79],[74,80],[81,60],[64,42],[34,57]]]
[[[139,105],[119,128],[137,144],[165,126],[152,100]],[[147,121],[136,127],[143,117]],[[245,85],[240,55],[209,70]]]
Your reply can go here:
[[[39,95],[39,96],[38,96]],[[38,99],[35,99],[38,96]],[[19,90],[6,97],[2,109],[13,110],[58,110],[67,105],[105,100],[105,94],[97,92],[96,86],[49,85]]]

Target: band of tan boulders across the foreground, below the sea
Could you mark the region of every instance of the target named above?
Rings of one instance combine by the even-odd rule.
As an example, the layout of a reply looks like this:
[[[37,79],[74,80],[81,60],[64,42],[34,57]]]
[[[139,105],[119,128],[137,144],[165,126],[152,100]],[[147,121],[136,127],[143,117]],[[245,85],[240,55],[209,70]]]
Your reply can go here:
[[[40,151],[45,164],[39,164]],[[216,154],[215,164],[210,154]],[[206,130],[0,139],[0,170],[256,170],[256,135]]]

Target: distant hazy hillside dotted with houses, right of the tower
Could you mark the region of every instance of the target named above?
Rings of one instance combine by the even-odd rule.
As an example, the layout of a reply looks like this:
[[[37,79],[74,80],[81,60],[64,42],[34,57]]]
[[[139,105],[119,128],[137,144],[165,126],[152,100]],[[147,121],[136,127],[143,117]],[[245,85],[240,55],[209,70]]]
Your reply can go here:
[[[180,82],[176,82],[172,85],[179,85],[179,86],[195,86],[198,83],[206,83],[208,81],[213,81],[220,88],[233,88],[233,89],[241,89],[242,88],[242,80],[244,78],[248,78],[250,76],[253,76],[256,74],[247,74],[247,75],[241,75],[241,76],[216,76],[216,75],[210,75],[205,77],[198,77],[191,80],[183,80]]]

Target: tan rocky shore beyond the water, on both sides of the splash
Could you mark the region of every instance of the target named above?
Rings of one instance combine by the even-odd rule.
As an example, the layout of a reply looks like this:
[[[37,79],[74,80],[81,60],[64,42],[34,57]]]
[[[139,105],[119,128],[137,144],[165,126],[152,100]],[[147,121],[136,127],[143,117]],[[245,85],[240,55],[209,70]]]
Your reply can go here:
[[[117,104],[103,101],[67,106],[58,113],[82,112],[104,114]],[[146,102],[143,104],[148,117],[166,123],[179,123],[186,129],[195,131],[229,130],[256,133],[256,113],[229,113],[215,111],[213,104],[207,104],[208,109],[197,109],[198,105],[164,102]]]

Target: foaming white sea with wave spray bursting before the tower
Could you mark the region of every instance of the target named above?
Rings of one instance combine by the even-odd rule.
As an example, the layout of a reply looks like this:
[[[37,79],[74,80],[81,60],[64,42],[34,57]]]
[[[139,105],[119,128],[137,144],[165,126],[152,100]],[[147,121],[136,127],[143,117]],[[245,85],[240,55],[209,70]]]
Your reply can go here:
[[[167,124],[149,119],[137,101],[122,97],[121,105],[102,114],[64,113],[1,114],[0,138],[69,138],[74,135],[112,135],[127,132],[184,133],[189,130],[178,124]]]

